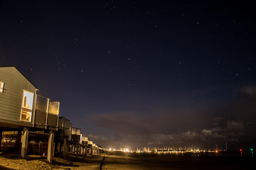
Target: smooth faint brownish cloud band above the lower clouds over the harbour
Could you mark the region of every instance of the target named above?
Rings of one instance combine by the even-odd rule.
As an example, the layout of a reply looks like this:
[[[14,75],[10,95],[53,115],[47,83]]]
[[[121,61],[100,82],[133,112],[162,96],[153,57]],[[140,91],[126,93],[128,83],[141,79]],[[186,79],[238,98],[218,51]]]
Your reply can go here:
[[[161,108],[148,113],[137,112],[113,112],[92,114],[89,121],[101,128],[109,129],[123,135],[150,135],[162,132],[164,134],[184,132],[198,129],[204,121],[198,121],[198,117],[205,117],[200,112],[189,108],[174,110]],[[196,123],[195,123],[196,122]]]

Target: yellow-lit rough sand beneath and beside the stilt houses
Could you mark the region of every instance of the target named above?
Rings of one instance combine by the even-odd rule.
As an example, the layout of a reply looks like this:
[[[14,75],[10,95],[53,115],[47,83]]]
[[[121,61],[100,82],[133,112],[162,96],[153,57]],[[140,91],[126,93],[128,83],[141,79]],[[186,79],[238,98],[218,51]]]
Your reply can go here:
[[[26,160],[16,152],[0,151],[0,170],[100,170],[102,159],[103,155],[69,155],[54,157],[50,164],[45,156],[28,155]]]

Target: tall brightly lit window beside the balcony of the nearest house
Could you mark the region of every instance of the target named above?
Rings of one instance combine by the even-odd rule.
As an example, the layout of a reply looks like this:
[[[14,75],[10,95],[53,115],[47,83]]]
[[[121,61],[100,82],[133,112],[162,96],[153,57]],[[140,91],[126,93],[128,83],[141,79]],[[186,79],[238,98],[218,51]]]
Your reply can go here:
[[[22,108],[20,114],[20,120],[31,122],[31,115],[34,105],[34,93],[29,91],[23,91]]]

